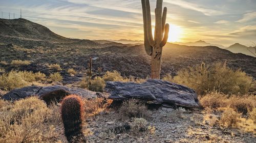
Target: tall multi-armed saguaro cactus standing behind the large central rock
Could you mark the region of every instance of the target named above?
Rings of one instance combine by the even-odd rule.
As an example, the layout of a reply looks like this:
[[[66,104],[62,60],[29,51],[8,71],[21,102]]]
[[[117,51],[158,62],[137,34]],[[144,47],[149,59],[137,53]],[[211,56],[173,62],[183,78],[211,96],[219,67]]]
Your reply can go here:
[[[151,26],[150,1],[141,0],[144,23],[144,46],[148,55],[151,55],[151,78],[160,78],[163,46],[166,44],[169,33],[169,24],[166,23],[167,8],[162,12],[163,0],[157,0],[155,9],[156,25],[153,39]]]

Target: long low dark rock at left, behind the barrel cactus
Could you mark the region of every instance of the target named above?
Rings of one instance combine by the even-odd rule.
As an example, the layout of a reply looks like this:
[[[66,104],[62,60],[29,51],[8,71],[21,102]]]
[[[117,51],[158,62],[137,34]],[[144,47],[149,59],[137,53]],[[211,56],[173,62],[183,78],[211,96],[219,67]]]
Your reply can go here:
[[[39,96],[41,99],[45,100],[47,104],[49,104],[53,100],[60,100],[61,98],[71,94],[79,95],[83,98],[108,98],[108,94],[96,93],[83,89],[69,88],[62,85],[53,85],[49,87],[31,86],[22,89],[15,89],[5,94],[2,99],[15,101],[30,96]]]

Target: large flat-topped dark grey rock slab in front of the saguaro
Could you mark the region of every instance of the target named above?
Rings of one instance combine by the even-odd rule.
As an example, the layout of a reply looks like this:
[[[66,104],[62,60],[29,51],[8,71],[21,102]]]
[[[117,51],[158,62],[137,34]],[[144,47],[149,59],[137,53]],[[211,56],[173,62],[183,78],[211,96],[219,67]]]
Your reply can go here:
[[[113,100],[137,98],[164,106],[199,106],[197,94],[193,89],[159,79],[148,79],[143,83],[108,81],[105,91],[111,94],[109,98]]]

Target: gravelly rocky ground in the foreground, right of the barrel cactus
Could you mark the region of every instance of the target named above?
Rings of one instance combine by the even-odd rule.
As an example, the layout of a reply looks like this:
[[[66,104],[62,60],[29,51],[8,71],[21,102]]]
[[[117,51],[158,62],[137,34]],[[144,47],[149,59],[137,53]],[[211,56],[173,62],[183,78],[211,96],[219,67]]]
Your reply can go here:
[[[86,128],[91,131],[87,139],[88,142],[255,142],[255,134],[210,125],[205,120],[207,114],[200,110],[185,110],[180,116],[173,115],[173,112],[172,108],[152,111],[147,121],[148,126],[156,128],[154,134],[148,131],[115,133],[116,127],[129,120],[118,120],[119,113],[114,110],[100,112],[98,116],[87,119]]]

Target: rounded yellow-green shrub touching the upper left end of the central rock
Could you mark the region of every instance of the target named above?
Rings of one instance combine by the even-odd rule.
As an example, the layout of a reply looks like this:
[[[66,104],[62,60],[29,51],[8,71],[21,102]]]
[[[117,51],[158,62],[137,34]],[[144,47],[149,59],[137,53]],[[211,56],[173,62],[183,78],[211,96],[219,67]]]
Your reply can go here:
[[[105,87],[105,81],[101,78],[96,76],[94,79],[90,80],[89,90],[95,92],[103,92]]]

